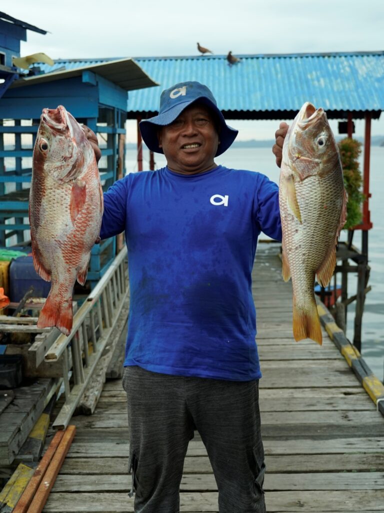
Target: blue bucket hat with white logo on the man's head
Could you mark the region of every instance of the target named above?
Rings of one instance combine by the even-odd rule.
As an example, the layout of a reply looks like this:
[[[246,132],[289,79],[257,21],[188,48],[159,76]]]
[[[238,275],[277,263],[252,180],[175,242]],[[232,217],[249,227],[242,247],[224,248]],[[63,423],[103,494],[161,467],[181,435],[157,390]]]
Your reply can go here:
[[[160,127],[169,125],[177,116],[194,102],[206,105],[216,113],[220,126],[220,144],[215,156],[221,155],[236,139],[238,130],[225,122],[211,91],[200,82],[181,82],[161,93],[159,114],[139,123],[141,136],[147,147],[156,153],[164,153],[159,147],[157,132]]]

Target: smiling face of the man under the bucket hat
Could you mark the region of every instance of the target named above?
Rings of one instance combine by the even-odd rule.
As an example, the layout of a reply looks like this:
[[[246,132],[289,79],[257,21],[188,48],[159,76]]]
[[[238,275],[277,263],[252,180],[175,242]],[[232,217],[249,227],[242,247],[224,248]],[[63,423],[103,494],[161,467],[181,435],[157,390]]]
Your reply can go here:
[[[214,117],[204,105],[187,107],[173,123],[159,130],[158,137],[172,171],[196,174],[216,166],[219,135]]]

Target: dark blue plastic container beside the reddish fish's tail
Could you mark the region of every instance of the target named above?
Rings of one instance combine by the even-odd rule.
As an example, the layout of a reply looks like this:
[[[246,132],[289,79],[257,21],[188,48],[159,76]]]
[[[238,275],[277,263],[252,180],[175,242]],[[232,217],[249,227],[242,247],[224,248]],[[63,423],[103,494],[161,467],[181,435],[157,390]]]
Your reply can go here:
[[[13,260],[9,269],[9,299],[15,303],[22,300],[31,285],[34,298],[46,298],[51,289],[51,282],[40,278],[35,271],[32,255]]]

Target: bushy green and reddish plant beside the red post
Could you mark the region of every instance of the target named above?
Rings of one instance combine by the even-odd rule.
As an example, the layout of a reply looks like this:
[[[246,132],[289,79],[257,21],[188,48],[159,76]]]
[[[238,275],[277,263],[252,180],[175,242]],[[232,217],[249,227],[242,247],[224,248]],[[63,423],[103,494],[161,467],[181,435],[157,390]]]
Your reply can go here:
[[[348,194],[347,222],[344,229],[348,230],[361,223],[361,205],[365,199],[361,192],[362,177],[359,165],[361,143],[350,137],[338,142],[340,160],[342,161],[344,185]]]

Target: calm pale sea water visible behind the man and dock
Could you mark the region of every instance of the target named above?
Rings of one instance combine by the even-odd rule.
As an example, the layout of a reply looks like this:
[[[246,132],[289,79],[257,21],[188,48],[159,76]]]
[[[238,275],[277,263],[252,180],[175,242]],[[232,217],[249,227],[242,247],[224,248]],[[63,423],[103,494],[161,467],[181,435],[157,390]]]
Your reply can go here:
[[[148,151],[143,151],[143,168],[149,169]],[[155,154],[156,168],[165,165],[163,155]],[[237,169],[251,169],[266,174],[278,183],[280,170],[276,167],[274,156],[269,148],[230,148],[215,160],[217,164]],[[136,151],[126,152],[127,172],[137,171]],[[370,199],[371,221],[373,228],[369,232],[369,264],[371,275],[369,284],[372,290],[367,294],[362,322],[362,356],[374,374],[384,380],[384,147],[371,148]],[[360,164],[362,169],[362,163]],[[345,230],[342,240],[346,240]],[[360,245],[361,235],[356,232],[353,243]],[[356,292],[356,276],[350,275],[349,295]],[[354,305],[348,307],[347,337],[353,340]]]

